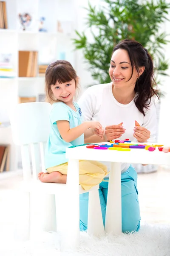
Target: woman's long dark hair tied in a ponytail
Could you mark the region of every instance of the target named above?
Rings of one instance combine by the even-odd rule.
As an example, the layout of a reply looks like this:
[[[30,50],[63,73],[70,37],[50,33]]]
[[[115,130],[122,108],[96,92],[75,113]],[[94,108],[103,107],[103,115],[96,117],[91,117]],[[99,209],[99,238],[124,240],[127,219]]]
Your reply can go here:
[[[135,97],[135,105],[145,116],[144,108],[147,109],[149,107],[152,96],[155,95],[159,98],[157,94],[158,91],[153,88],[156,86],[156,81],[153,75],[152,58],[147,52],[147,49],[145,49],[142,44],[136,42],[135,40],[125,39],[114,47],[113,52],[115,52],[117,49],[124,49],[129,55],[130,64],[132,66],[132,74],[130,79],[133,76],[134,67],[136,68],[138,74],[140,73],[140,67],[144,67],[144,72],[136,80],[135,84],[135,92],[137,93]]]

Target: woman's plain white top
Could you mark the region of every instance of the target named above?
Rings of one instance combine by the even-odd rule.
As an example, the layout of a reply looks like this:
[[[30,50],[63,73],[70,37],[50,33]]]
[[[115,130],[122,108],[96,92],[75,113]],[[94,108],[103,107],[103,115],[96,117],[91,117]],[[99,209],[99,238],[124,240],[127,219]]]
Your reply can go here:
[[[103,128],[123,122],[123,127],[126,131],[119,140],[129,139],[133,142],[136,141],[133,137],[135,120],[150,131],[150,139],[147,142],[155,142],[156,140],[157,122],[155,103],[151,101],[149,108],[144,111],[144,116],[136,108],[134,99],[126,105],[116,101],[112,93],[112,82],[89,87],[82,94],[78,104],[82,110],[83,122],[90,120],[99,121]],[[125,172],[129,168],[129,165],[129,163],[122,163],[122,172]]]

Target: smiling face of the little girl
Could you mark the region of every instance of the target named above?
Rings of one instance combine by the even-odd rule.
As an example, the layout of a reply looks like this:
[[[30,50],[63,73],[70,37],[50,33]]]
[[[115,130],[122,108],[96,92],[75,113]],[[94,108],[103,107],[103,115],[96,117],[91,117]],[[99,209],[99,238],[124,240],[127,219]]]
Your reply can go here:
[[[73,102],[73,97],[76,94],[75,80],[73,79],[62,84],[59,84],[57,81],[55,84],[51,85],[51,90],[57,100],[69,104]]]

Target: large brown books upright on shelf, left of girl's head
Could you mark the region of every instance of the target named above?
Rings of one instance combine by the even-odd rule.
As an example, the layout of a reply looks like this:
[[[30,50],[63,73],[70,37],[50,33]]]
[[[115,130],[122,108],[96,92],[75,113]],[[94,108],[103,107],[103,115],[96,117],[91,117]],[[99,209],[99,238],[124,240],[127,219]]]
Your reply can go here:
[[[36,51],[19,51],[19,76],[35,77],[37,75]]]

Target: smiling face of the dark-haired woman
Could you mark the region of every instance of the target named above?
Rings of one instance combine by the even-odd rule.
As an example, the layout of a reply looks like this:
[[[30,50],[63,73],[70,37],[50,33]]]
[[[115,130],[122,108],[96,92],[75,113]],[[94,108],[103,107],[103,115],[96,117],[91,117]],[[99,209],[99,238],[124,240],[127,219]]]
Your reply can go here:
[[[133,68],[133,76],[130,79],[131,74],[132,67],[130,64],[130,58],[127,51],[124,49],[118,49],[115,52],[113,52],[111,58],[111,66],[109,68],[109,75],[114,87],[135,87],[136,79],[138,78],[136,68]]]

